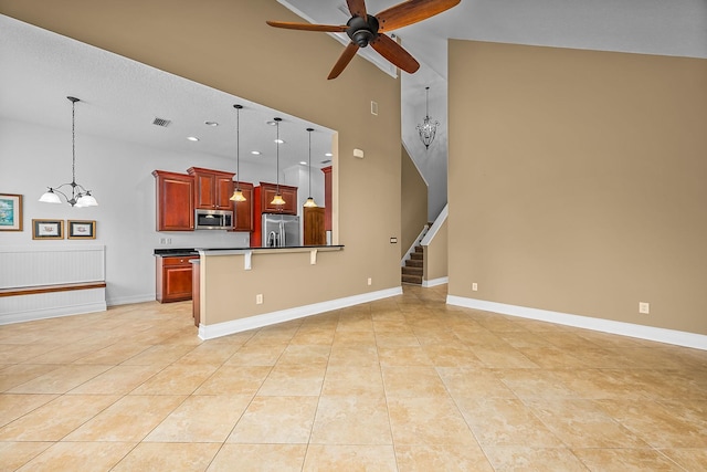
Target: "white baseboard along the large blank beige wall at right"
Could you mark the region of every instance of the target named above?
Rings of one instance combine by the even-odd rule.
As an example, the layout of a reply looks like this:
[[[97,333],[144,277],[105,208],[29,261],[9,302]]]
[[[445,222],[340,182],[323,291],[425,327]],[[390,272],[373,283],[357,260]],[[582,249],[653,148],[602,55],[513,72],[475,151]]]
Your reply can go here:
[[[505,303],[487,302],[484,300],[466,298],[455,295],[447,295],[446,303],[450,305],[464,306],[466,308],[483,310],[485,312],[500,313],[521,318],[538,319],[560,325],[707,350],[707,336],[695,333],[656,328],[653,326],[615,322],[612,319],[592,318],[591,316],[550,312],[547,310],[529,308],[527,306],[508,305]]]

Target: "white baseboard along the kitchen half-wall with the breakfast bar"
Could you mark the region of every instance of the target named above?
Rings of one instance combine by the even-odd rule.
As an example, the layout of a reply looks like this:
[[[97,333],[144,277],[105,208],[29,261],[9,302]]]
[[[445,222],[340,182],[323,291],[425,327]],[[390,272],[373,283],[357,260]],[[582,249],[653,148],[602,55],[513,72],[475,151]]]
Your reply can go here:
[[[262,315],[249,316],[247,318],[234,319],[232,322],[217,323],[214,325],[199,325],[199,337],[201,339],[213,339],[241,333],[249,329],[261,328],[277,323],[292,319],[304,318],[333,310],[345,308],[347,306],[359,305],[361,303],[373,302],[376,300],[388,298],[401,295],[402,286],[394,289],[369,292],[360,295],[347,296],[344,298],[329,300],[327,302],[314,303],[312,305],[296,306],[294,308],[281,310],[278,312],[265,313]]]

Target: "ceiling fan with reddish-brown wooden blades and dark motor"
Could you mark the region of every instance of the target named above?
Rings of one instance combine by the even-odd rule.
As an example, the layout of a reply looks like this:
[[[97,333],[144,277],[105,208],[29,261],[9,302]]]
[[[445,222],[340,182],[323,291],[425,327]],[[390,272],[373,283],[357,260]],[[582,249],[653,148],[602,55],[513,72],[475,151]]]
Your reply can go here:
[[[387,32],[408,27],[458,4],[462,0],[408,0],[372,15],[366,12],[366,0],[346,0],[351,18],[346,24],[310,24],[286,21],[266,21],[275,28],[288,30],[346,33],[351,42],[334,64],[327,78],[336,78],[351,62],[359,48],[371,45],[380,55],[395,66],[412,74],[420,64],[400,44],[388,36]]]

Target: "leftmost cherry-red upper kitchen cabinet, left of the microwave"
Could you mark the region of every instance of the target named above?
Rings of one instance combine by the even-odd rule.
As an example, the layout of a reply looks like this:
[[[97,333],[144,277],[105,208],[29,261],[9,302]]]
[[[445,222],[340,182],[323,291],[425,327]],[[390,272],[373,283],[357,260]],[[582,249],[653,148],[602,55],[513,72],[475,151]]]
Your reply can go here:
[[[157,231],[193,231],[194,179],[192,176],[155,170]]]

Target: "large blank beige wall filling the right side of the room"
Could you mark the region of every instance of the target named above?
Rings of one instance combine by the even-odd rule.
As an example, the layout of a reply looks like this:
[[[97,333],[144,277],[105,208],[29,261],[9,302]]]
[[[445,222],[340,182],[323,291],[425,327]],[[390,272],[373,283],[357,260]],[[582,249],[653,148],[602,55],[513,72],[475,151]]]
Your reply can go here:
[[[450,294],[707,334],[707,61],[451,41],[449,63]]]

